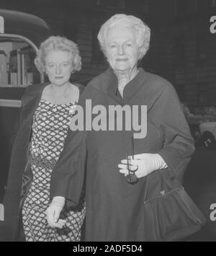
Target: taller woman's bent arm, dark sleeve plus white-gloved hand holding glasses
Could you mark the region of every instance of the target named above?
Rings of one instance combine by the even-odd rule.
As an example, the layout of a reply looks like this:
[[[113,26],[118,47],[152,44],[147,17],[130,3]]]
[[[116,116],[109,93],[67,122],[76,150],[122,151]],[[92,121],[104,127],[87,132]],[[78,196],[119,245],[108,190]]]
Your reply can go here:
[[[138,178],[145,177],[158,169],[169,167],[182,180],[187,164],[194,151],[194,141],[181,110],[179,98],[171,84],[159,92],[149,112],[163,136],[163,148],[158,154],[137,154],[130,158],[130,169]],[[127,159],[118,165],[120,172],[127,175]]]

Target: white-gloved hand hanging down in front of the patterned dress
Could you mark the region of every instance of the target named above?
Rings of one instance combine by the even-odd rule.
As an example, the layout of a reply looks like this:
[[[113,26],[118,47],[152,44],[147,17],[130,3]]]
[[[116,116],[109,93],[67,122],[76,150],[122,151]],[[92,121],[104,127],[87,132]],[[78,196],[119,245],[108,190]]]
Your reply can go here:
[[[62,196],[55,196],[48,207],[46,214],[48,219],[48,224],[52,228],[59,228],[62,229],[63,226],[66,224],[66,221],[63,219],[59,219],[60,212],[63,210],[65,205],[66,198]]]

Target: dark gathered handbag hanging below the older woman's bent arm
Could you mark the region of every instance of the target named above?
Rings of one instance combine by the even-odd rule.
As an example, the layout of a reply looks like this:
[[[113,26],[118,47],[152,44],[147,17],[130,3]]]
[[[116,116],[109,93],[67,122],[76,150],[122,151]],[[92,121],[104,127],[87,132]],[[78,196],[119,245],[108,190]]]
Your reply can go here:
[[[147,241],[176,241],[194,234],[206,219],[171,169],[160,169],[146,177],[144,193]]]

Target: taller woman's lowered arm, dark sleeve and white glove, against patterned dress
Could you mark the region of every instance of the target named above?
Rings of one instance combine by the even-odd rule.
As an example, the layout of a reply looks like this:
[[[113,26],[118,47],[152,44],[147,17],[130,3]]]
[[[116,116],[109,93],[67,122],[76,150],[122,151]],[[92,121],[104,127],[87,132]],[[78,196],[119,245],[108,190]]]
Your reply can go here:
[[[78,105],[84,110],[83,102],[85,99],[80,100]],[[58,220],[63,206],[65,203],[67,206],[78,205],[84,187],[86,131],[71,131],[71,127],[70,124],[63,151],[50,181],[50,199],[53,200],[47,210],[47,219],[50,226],[58,228],[62,228],[64,224],[62,220]]]

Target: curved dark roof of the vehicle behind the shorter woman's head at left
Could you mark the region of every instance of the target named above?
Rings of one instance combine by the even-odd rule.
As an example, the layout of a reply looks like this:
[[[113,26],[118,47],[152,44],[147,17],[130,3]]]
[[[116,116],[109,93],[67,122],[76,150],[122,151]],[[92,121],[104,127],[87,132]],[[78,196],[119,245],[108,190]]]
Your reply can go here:
[[[0,16],[4,17],[4,33],[27,37],[37,47],[51,35],[48,24],[35,15],[0,9]]]

